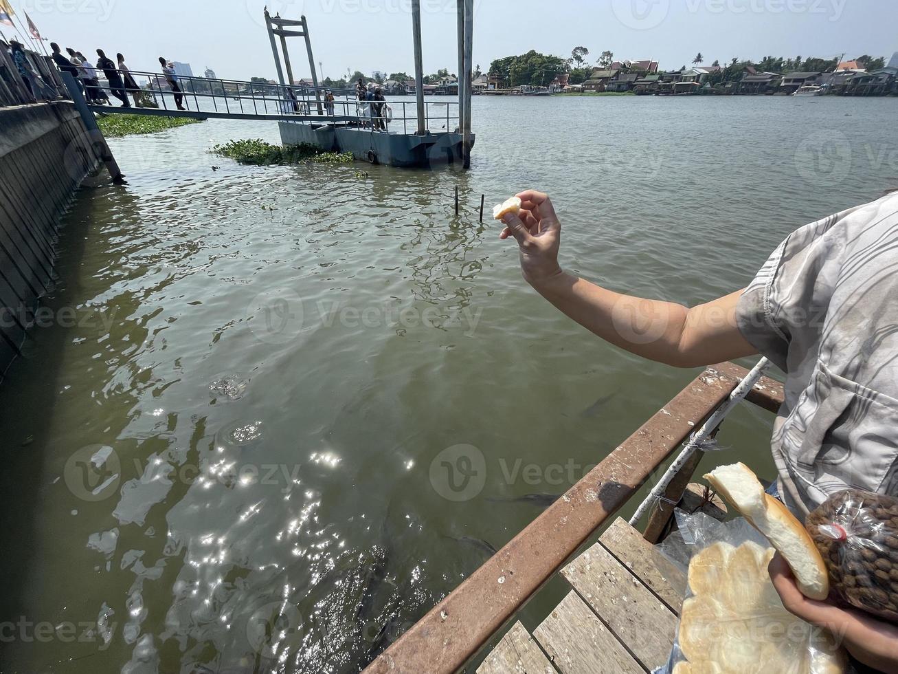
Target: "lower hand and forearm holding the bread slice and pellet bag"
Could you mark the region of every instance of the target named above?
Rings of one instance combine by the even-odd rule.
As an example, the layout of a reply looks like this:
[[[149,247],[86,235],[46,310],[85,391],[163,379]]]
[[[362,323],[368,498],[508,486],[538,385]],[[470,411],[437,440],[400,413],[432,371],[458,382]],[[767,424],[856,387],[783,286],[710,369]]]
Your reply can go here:
[[[840,608],[807,599],[796,584],[788,563],[779,554],[770,560],[770,580],[793,616],[832,634],[854,658],[885,674],[898,674],[898,625],[877,620],[853,608]]]

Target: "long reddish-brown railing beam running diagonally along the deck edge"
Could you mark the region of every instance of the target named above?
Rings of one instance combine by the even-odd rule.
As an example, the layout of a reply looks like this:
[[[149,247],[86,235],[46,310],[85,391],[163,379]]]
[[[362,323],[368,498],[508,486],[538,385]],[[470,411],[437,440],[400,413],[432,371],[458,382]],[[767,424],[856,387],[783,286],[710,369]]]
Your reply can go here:
[[[726,400],[738,384],[733,372],[718,365],[696,377],[365,672],[449,674],[459,669]]]

